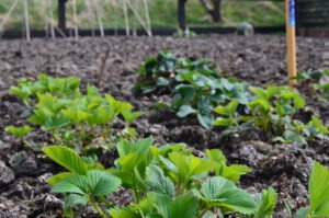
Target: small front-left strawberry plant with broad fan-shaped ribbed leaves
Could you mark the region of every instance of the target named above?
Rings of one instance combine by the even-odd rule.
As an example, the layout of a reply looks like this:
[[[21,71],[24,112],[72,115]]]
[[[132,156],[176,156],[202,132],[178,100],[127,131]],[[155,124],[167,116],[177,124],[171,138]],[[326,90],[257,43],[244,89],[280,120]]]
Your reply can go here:
[[[105,196],[120,187],[121,180],[105,171],[99,163],[88,164],[67,147],[45,147],[43,151],[69,171],[48,179],[48,183],[54,186],[52,193],[67,194],[66,216],[75,217],[73,207],[86,207],[90,204],[101,217],[106,217],[99,204],[111,205]]]

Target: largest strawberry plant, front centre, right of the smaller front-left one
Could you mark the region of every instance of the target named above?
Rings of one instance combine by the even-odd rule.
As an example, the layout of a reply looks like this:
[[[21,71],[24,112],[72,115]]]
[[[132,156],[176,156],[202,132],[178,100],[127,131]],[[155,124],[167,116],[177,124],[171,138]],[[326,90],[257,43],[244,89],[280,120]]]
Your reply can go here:
[[[232,181],[237,182],[249,169],[226,165],[219,150],[208,150],[208,158],[202,159],[191,154],[183,145],[157,148],[150,139],[136,145],[125,141],[117,149],[121,157],[111,172],[132,191],[135,203],[111,209],[114,218],[215,218],[230,213],[257,217],[262,211],[270,217],[274,210],[275,192],[264,191],[261,199],[256,199],[238,188]],[[208,176],[213,171],[216,176]]]

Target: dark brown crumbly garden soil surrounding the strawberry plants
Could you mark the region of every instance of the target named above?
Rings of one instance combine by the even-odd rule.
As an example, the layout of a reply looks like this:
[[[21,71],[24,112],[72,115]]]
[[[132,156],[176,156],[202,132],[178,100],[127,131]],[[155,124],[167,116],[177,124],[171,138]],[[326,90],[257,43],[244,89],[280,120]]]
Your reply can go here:
[[[298,67],[319,69],[329,67],[329,42],[298,38]],[[106,61],[106,51],[110,49]],[[33,39],[0,42],[0,217],[61,217],[63,198],[48,194],[47,177],[58,172],[58,167],[42,156],[33,153],[22,142],[4,133],[8,125],[23,122],[23,104],[9,95],[8,89],[20,78],[35,78],[38,72],[53,77],[76,76],[83,84],[98,84],[101,91],[133,103],[137,110],[149,112],[134,125],[140,137],[154,137],[157,145],[185,142],[197,150],[219,148],[230,163],[243,163],[252,172],[242,176],[239,185],[250,193],[273,186],[279,193],[274,217],[287,217],[283,202],[293,209],[308,204],[307,183],[311,162],[329,165],[329,141],[310,141],[308,147],[270,144],[262,133],[248,130],[230,138],[208,131],[194,119],[179,119],[169,112],[156,112],[151,106],[169,96],[134,96],[129,88],[137,80],[135,71],[141,61],[160,50],[172,50],[179,56],[212,58],[227,77],[237,77],[252,85],[285,84],[285,38],[282,36],[238,37],[198,36],[172,37],[106,37],[73,39]],[[104,66],[102,74],[102,66]],[[315,112],[329,119],[328,103],[319,103],[300,87],[308,104],[299,116]],[[31,136],[37,144],[48,141],[47,135]],[[112,165],[115,153],[103,157]],[[111,158],[112,157],[112,158]],[[110,162],[106,162],[110,161]],[[114,200],[129,202],[126,192]],[[94,216],[87,210],[86,217]]]

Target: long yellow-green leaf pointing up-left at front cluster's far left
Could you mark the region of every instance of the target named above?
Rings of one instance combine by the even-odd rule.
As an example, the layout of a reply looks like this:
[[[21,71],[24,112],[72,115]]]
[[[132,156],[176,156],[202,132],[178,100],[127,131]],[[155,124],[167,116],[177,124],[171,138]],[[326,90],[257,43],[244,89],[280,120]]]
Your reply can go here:
[[[44,147],[43,151],[56,163],[71,172],[86,175],[88,165],[71,149],[65,146]]]

